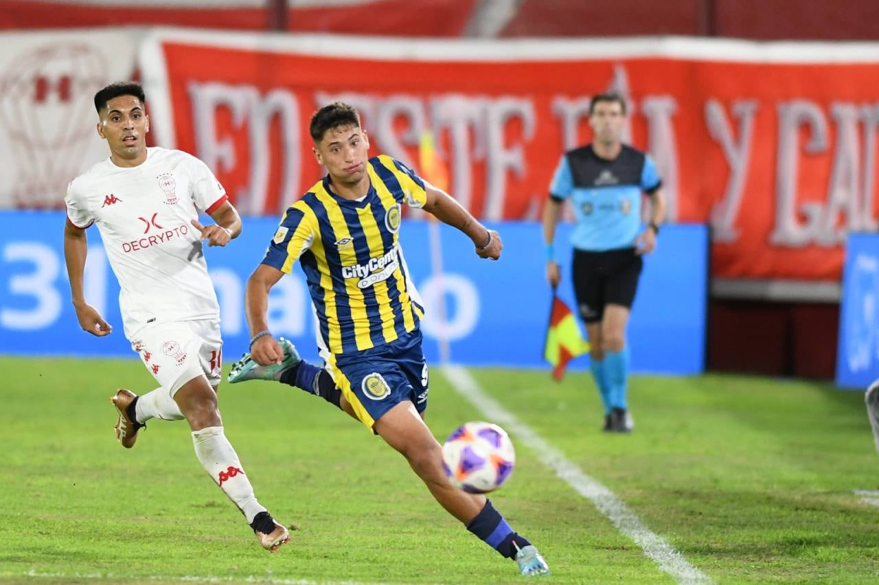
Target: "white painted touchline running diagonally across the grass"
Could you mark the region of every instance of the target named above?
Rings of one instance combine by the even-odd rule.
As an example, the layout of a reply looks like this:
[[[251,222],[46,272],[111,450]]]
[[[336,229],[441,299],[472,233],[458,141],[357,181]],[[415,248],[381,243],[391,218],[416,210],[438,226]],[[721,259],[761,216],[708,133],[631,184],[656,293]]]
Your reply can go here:
[[[579,495],[588,499],[611,521],[618,531],[636,542],[644,555],[655,562],[665,573],[679,583],[710,583],[711,578],[691,565],[672,545],[658,534],[650,531],[641,519],[614,492],[583,473],[551,444],[531,430],[527,424],[520,423],[511,412],[485,394],[470,373],[459,365],[442,366],[443,374],[452,382],[452,387],[480,410],[492,423],[498,423],[516,436],[517,443],[540,455],[540,460],[550,467],[556,475],[568,482]],[[551,557],[548,559],[552,567]]]

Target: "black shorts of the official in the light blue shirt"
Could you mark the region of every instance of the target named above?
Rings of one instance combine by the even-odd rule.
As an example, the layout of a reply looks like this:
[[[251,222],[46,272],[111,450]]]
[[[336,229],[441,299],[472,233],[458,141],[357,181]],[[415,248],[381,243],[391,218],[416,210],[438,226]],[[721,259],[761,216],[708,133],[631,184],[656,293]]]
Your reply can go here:
[[[574,249],[574,293],[586,323],[604,317],[607,305],[632,307],[643,259],[635,248],[590,252]]]

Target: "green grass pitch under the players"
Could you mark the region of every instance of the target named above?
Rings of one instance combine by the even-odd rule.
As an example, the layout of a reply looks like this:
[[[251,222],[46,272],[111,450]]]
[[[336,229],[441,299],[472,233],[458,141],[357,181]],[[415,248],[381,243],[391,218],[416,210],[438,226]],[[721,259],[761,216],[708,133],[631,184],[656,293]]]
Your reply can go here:
[[[117,387],[133,360],[0,358],[0,581],[522,582],[433,502],[396,452],[313,396],[270,382],[220,389],[227,435],[258,498],[294,529],[265,553],[201,469],[185,422],[154,421],[127,451]],[[599,431],[586,372],[473,369],[487,394],[613,490],[718,583],[879,580],[879,457],[860,393],[749,377],[636,376],[631,436]],[[432,369],[440,438],[482,419]],[[512,435],[492,495],[558,583],[673,582]],[[877,496],[879,497],[879,496]]]

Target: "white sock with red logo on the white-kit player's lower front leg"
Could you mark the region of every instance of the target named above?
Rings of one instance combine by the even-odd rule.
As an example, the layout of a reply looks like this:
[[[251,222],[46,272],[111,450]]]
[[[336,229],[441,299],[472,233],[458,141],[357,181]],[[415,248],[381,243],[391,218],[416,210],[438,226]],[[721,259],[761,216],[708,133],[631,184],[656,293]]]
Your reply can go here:
[[[229,500],[235,502],[247,518],[247,524],[253,522],[254,516],[266,511],[257,502],[257,496],[253,495],[251,482],[244,474],[235,449],[229,444],[222,427],[193,430],[193,444],[201,466],[229,496]]]

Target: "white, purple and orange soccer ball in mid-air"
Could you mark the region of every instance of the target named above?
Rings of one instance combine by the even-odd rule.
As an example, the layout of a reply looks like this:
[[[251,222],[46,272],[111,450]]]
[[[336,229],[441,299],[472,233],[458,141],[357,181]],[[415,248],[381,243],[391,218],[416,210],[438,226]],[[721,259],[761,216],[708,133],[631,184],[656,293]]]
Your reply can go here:
[[[506,431],[497,424],[464,423],[442,446],[443,467],[456,488],[485,494],[510,477],[516,451]]]

